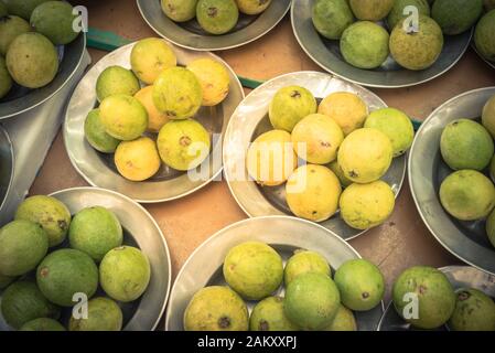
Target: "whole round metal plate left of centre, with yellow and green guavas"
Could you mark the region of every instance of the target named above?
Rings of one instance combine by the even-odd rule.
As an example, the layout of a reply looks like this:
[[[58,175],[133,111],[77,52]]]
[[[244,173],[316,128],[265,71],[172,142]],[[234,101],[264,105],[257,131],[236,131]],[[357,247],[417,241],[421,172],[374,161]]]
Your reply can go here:
[[[106,55],[79,82],[67,107],[64,122],[65,147],[74,168],[94,186],[117,191],[141,203],[179,199],[206,185],[222,172],[222,137],[232,114],[244,98],[244,90],[236,74],[219,57],[211,53],[191,52],[174,46],[181,65],[198,57],[212,57],[226,66],[230,76],[230,92],[227,98],[216,107],[202,107],[194,117],[211,135],[215,133],[218,137],[222,133],[222,137],[212,140],[211,158],[196,169],[206,171],[205,178],[193,180],[187,173],[163,164],[151,179],[131,182],[118,173],[112,154],[100,153],[89,146],[84,137],[84,121],[89,110],[97,106],[95,87],[99,74],[110,65],[130,68],[132,46],[133,44],[129,44]],[[155,138],[155,135],[151,137]]]

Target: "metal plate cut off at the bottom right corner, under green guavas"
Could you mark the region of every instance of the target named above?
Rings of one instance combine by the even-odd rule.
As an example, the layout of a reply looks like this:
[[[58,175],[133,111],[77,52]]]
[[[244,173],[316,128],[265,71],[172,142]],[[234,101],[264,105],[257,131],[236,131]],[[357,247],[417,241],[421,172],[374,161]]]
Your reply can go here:
[[[487,296],[495,298],[495,276],[470,266],[448,266],[440,268],[440,270],[446,275],[454,289],[475,288],[485,292]],[[390,302],[380,319],[378,331],[411,330],[415,330],[415,328],[399,317],[394,308],[394,303]],[[437,329],[437,331],[446,330],[449,330],[446,325]]]

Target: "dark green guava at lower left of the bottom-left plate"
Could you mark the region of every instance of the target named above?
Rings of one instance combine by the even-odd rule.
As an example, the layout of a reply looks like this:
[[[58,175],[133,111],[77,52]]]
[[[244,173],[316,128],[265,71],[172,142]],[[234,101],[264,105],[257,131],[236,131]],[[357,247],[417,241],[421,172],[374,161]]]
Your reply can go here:
[[[14,329],[39,319],[58,319],[61,311],[43,297],[32,281],[20,280],[2,293],[1,312],[6,322]]]

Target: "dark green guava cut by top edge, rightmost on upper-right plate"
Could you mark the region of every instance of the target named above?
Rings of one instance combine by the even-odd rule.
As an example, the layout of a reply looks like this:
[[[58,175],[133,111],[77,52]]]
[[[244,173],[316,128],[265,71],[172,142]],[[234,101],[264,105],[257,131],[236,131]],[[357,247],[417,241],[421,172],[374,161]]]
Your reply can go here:
[[[431,8],[431,17],[448,35],[471,30],[482,13],[483,0],[435,0]]]

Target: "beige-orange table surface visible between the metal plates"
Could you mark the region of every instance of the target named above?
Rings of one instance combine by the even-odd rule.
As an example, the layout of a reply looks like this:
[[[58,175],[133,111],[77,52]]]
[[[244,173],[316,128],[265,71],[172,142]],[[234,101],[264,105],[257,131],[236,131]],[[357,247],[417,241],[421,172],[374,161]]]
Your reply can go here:
[[[155,36],[140,17],[133,0],[74,1],[89,10],[89,25],[118,33],[130,40]],[[89,50],[93,62],[105,52]],[[269,34],[240,49],[218,52],[234,71],[243,76],[267,79],[297,71],[321,71],[295,41],[289,15]],[[402,109],[418,119],[424,119],[443,101],[470,89],[494,86],[495,71],[469,50],[449,73],[433,82],[401,89],[373,89],[389,106]],[[87,185],[72,167],[62,135],[58,133],[31,194],[47,194],[57,190]],[[230,195],[225,181],[213,182],[184,199],[144,205],[158,221],[169,244],[173,277],[190,254],[220,228],[246,218]],[[434,267],[460,264],[430,234],[423,225],[406,181],[395,212],[383,226],[349,242],[359,254],[377,264],[388,285],[387,298],[394,278],[413,265]]]

